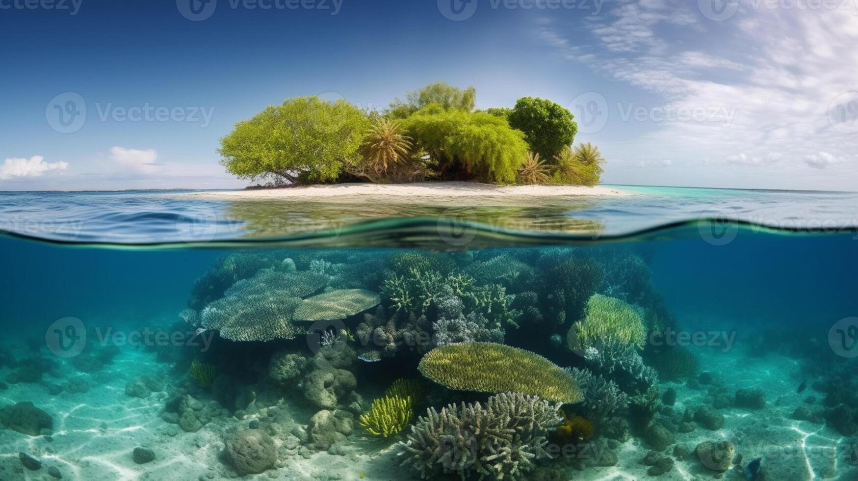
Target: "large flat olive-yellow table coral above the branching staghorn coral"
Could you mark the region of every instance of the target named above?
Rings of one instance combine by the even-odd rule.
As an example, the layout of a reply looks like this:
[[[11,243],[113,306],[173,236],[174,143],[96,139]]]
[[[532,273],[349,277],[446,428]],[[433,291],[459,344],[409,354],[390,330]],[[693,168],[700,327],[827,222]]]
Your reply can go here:
[[[567,371],[545,357],[504,344],[447,344],[429,351],[420,373],[450,389],[524,393],[577,403],[583,393]]]

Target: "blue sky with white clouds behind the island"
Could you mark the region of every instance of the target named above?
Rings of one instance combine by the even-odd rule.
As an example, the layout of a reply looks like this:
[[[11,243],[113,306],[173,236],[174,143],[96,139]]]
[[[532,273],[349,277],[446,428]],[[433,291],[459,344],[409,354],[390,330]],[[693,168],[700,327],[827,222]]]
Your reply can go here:
[[[855,190],[853,0],[190,1],[0,0],[0,190],[245,186],[236,121],[437,80],[571,108],[606,183]]]

